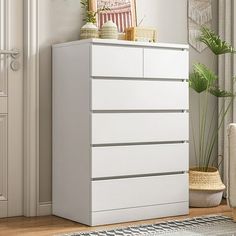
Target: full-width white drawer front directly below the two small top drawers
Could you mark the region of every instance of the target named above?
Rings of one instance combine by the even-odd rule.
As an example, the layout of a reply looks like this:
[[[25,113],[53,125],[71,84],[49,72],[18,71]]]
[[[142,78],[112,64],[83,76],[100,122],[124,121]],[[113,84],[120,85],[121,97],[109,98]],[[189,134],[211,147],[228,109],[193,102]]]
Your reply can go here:
[[[187,82],[92,80],[93,110],[178,110],[188,106]]]

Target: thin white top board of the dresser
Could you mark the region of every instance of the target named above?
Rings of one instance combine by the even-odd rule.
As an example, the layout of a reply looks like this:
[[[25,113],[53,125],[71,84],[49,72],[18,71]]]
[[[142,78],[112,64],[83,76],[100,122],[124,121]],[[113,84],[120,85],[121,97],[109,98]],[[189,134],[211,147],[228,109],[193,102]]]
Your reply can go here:
[[[134,42],[127,40],[115,39],[84,39],[66,43],[54,44],[53,48],[69,47],[72,45],[81,44],[100,44],[100,45],[114,45],[114,46],[136,46],[136,47],[154,47],[154,48],[173,48],[173,49],[189,49],[188,44],[174,44],[174,43],[149,43],[149,42]]]

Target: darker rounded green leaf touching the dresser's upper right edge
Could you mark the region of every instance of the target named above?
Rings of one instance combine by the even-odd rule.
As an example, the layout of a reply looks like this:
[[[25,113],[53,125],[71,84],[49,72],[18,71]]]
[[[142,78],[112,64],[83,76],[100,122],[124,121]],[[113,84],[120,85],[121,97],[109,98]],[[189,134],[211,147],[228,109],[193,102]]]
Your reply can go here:
[[[193,72],[190,74],[189,86],[197,93],[201,93],[207,90],[208,87],[207,85],[208,85],[207,80],[204,77],[200,76],[199,73]]]

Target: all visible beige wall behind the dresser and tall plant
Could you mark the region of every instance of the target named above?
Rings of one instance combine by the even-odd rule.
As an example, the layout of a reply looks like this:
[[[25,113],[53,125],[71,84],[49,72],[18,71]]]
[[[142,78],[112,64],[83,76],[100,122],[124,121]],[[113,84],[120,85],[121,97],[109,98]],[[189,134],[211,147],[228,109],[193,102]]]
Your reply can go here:
[[[82,25],[79,0],[40,0],[40,201],[51,200],[51,45],[77,40]],[[217,1],[214,26],[217,28]],[[158,29],[159,42],[187,43],[187,0],[137,0],[138,22]],[[209,51],[190,50],[191,63],[204,61],[216,70],[216,60]],[[194,94],[191,112],[196,114]],[[216,103],[212,100],[212,105]],[[192,153],[192,148],[191,148]]]

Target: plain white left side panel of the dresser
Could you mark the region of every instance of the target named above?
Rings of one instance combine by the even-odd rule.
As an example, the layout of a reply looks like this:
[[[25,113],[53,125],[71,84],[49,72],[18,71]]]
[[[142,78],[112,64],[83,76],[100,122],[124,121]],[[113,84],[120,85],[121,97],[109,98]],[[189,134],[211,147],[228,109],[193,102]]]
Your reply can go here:
[[[90,224],[90,44],[53,48],[53,214]]]

